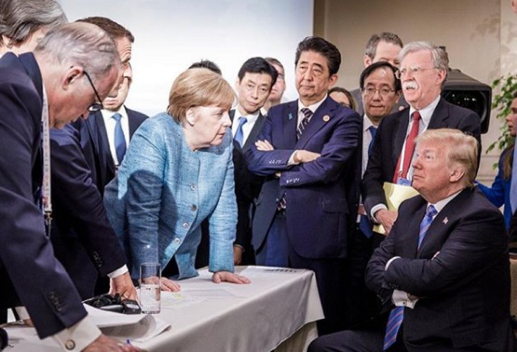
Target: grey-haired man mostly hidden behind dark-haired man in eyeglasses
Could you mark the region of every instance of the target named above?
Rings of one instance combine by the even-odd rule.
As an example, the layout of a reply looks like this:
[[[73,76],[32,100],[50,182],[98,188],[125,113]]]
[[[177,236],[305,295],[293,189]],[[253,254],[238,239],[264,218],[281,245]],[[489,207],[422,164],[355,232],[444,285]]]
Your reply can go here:
[[[402,39],[395,33],[382,32],[378,35],[372,35],[372,37],[369,37],[366,43],[365,56],[363,57],[365,68],[378,61],[389,62],[392,64],[392,66],[398,68],[401,66],[401,61],[398,58],[398,54],[401,52],[402,47]],[[365,110],[363,107],[363,95],[361,94],[361,89],[354,89],[350,92],[350,94],[352,94],[352,97],[354,97],[356,100],[356,111],[359,113],[359,115],[364,115]],[[406,107],[407,103],[403,98],[401,98],[393,106],[392,113],[396,113],[397,111]]]

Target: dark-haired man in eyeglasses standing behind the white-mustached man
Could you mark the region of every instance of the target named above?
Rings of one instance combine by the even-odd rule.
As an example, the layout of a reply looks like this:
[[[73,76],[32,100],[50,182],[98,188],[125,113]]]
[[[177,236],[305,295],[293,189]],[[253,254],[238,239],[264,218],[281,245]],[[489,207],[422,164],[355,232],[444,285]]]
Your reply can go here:
[[[382,119],[390,114],[401,96],[401,81],[395,77],[397,69],[387,61],[377,61],[361,72],[359,84],[363,92],[363,143],[361,176],[372,153],[374,138]],[[379,240],[372,231],[372,223],[365,212],[363,204],[359,204],[356,231],[352,237],[350,250],[350,309],[352,321],[361,322],[376,313],[376,296],[365,286],[365,268],[372,255],[373,248]]]

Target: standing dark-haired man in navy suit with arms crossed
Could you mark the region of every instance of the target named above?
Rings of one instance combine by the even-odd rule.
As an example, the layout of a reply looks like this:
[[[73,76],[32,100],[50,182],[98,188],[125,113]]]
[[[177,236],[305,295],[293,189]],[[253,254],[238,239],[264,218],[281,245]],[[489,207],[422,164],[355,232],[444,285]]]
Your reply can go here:
[[[250,171],[267,177],[256,200],[252,240],[264,264],[316,273],[325,313],[318,330],[329,333],[343,326],[345,315],[361,119],[327,96],[341,63],[336,46],[307,37],[298,44],[295,62],[299,99],[271,108],[245,153]]]

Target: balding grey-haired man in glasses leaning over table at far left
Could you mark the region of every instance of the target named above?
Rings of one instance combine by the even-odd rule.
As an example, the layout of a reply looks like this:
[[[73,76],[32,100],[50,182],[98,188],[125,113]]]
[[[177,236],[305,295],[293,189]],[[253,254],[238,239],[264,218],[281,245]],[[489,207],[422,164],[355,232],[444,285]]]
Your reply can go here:
[[[118,84],[120,69],[112,39],[87,23],[53,28],[34,53],[0,59],[0,305],[22,303],[39,337],[68,351],[136,351],[94,326],[45,235],[49,130],[88,115]]]

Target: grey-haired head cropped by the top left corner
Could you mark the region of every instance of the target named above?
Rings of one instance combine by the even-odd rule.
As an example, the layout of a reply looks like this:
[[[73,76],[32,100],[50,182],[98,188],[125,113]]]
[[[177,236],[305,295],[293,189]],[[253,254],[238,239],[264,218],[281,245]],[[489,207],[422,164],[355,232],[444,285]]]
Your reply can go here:
[[[32,51],[50,28],[66,22],[55,0],[0,1],[0,56]]]

